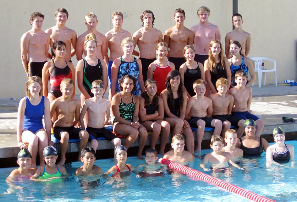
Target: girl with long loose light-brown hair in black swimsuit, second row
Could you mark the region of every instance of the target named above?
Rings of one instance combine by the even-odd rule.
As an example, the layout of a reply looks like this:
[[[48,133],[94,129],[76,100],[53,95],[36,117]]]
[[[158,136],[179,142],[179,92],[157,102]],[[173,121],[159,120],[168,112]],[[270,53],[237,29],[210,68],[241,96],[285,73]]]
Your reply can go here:
[[[222,49],[222,43],[218,39],[214,39],[210,42],[208,59],[204,62],[204,72],[207,85],[211,92],[217,93],[216,80],[221,77],[228,80],[230,88],[231,84],[231,71],[230,65],[226,57],[224,57],[224,51]],[[207,96],[207,95],[206,95]]]

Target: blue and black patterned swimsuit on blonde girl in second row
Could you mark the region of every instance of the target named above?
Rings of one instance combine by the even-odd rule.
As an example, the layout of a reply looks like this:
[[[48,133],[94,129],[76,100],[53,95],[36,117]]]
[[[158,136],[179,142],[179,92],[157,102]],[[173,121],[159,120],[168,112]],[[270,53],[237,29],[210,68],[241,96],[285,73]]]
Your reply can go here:
[[[141,91],[140,91],[140,86],[138,83],[138,75],[139,75],[139,65],[136,61],[136,58],[134,57],[133,62],[126,62],[120,57],[121,59],[121,64],[118,67],[118,79],[120,79],[123,75],[132,75],[136,79],[136,90],[132,92],[133,95],[138,96]],[[118,80],[117,80],[117,88],[116,92],[120,92],[119,86],[118,86]]]

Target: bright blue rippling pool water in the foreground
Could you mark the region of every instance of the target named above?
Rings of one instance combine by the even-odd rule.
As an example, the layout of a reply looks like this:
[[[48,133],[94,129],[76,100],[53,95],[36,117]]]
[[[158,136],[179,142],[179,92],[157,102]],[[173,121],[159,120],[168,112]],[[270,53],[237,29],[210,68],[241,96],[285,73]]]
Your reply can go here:
[[[297,141],[286,143],[297,148]],[[202,158],[211,151],[202,150]],[[297,201],[297,167],[291,168],[290,163],[267,168],[265,153],[258,158],[243,159],[240,162],[240,167],[245,168],[243,171],[232,166],[224,171],[203,171],[199,166],[201,162],[202,159],[195,158],[190,167],[275,201]],[[127,163],[136,167],[145,161],[133,156],[128,157]],[[114,178],[111,175],[107,178],[73,176],[81,165],[81,162],[73,162],[66,167],[71,176],[55,183],[30,180],[6,183],[6,177],[15,168],[1,168],[0,201],[250,201],[172,170],[164,170],[159,177],[145,178],[137,178],[135,173]],[[106,172],[114,163],[112,159],[104,159],[96,160],[95,165]]]

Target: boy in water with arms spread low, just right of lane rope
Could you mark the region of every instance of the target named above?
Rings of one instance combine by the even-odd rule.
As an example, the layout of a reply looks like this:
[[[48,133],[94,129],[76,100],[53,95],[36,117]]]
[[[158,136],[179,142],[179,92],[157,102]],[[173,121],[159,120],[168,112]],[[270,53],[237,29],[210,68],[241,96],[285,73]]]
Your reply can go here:
[[[210,147],[213,149],[213,152],[210,154],[206,154],[203,158],[200,167],[203,168],[204,171],[211,171],[212,169],[205,168],[206,163],[210,163],[211,167],[215,168],[224,168],[229,167],[229,163],[238,169],[243,170],[243,168],[239,167],[236,163],[233,162],[233,157],[229,152],[223,152],[224,143],[223,139],[219,135],[213,135],[210,141]]]

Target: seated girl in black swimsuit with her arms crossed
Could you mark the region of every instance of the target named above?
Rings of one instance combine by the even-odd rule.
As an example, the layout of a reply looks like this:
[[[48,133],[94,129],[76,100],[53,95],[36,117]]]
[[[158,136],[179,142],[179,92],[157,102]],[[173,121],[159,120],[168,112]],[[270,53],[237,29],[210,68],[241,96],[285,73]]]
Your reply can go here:
[[[164,121],[164,102],[161,97],[158,96],[157,82],[152,79],[145,81],[145,92],[141,94],[139,118],[141,124],[147,131],[152,132],[151,135],[151,147],[155,148],[158,141],[160,132],[161,145],[159,154],[164,154],[166,142],[170,133],[170,125],[167,121]]]

